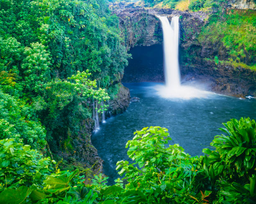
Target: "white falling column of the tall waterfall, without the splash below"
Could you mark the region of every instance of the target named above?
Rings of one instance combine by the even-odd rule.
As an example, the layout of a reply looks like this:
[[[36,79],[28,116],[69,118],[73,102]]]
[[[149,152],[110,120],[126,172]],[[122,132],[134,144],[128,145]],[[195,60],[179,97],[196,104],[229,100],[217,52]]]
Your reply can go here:
[[[180,86],[179,74],[179,17],[172,17],[171,25],[167,16],[159,16],[164,33],[164,74],[169,89]]]

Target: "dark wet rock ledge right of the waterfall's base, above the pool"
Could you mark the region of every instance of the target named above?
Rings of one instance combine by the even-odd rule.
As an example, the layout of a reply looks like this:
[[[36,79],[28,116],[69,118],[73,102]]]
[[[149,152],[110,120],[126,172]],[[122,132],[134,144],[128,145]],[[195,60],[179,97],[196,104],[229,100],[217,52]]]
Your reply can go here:
[[[205,67],[207,67],[207,74]],[[185,73],[184,78],[190,75],[195,77],[195,80],[207,84],[209,91],[236,97],[256,95],[256,72],[252,70],[204,62],[193,66],[183,64],[181,72]]]

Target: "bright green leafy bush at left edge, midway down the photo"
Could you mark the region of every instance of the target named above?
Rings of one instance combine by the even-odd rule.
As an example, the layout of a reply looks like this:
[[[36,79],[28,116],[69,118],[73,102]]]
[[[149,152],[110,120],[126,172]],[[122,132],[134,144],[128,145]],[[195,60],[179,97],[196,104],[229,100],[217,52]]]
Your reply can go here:
[[[23,140],[33,148],[42,148],[46,144],[45,129],[41,123],[32,119],[29,107],[15,97],[0,90],[0,139],[14,138]]]

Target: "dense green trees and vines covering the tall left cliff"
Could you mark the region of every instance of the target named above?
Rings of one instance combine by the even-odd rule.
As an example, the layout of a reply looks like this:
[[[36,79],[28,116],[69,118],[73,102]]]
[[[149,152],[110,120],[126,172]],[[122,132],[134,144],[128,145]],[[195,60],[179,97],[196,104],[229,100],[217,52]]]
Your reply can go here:
[[[105,0],[1,0],[0,138],[72,149],[123,75],[122,42]]]

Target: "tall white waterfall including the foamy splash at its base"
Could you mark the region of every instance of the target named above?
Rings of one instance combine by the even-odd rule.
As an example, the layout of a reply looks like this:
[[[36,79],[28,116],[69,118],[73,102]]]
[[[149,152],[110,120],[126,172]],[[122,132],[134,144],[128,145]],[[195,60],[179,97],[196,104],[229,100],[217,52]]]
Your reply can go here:
[[[205,96],[206,92],[181,85],[179,73],[179,17],[158,16],[164,34],[164,75],[165,86],[156,86],[161,97],[189,99]]]

